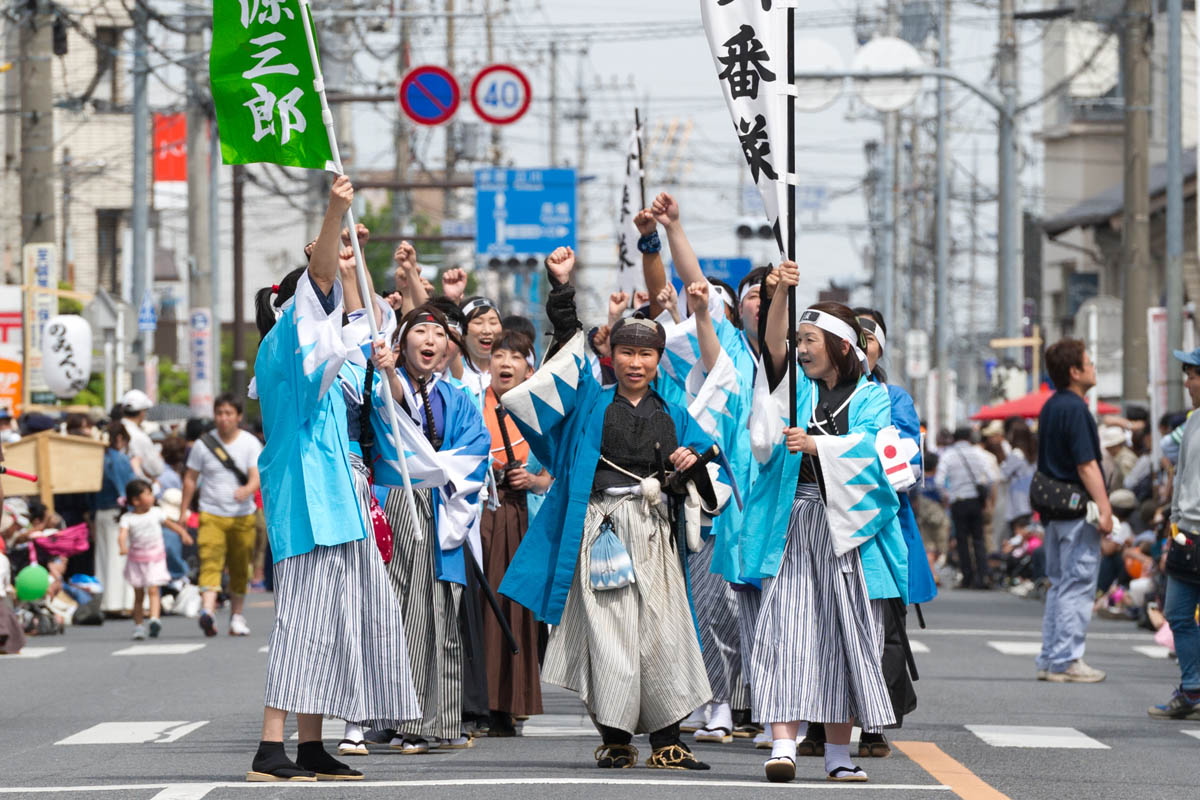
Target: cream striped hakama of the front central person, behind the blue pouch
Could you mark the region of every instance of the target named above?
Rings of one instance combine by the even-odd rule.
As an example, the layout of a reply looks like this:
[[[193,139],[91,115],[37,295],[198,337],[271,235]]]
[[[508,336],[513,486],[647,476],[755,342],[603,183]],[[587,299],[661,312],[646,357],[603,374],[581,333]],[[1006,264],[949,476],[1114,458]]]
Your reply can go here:
[[[592,545],[612,519],[636,582],[592,588]],[[666,512],[640,497],[593,494],[575,578],[542,669],[546,682],[580,693],[594,722],[629,733],[660,730],[713,696]]]

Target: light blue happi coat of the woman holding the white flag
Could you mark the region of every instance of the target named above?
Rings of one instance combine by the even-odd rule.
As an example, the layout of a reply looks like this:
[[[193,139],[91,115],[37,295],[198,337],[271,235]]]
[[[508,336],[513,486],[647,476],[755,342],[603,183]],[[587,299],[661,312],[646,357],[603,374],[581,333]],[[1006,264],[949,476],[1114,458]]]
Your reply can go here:
[[[817,386],[803,371],[797,374],[798,422],[808,426],[816,403]],[[804,453],[790,453],[784,444],[787,423],[787,381],[774,391],[760,367],[755,384],[755,415],[750,433],[758,479],[750,491],[746,522],[742,530],[743,578],[770,578],[779,572],[787,543],[787,525],[796,497]],[[815,437],[821,449],[827,517],[835,552],[857,546],[872,600],[908,599],[908,557],[896,512],[900,500],[888,482],[875,437],[892,423],[888,393],[863,377],[850,401],[850,432],[842,437]]]

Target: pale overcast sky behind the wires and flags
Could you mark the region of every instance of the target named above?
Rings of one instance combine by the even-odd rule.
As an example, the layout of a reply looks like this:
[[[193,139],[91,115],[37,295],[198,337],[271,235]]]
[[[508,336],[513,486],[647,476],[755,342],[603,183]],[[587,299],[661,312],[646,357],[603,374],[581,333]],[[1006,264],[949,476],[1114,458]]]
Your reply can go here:
[[[739,254],[734,236],[739,201],[744,203],[742,185],[744,166],[734,131],[720,94],[716,71],[700,24],[701,0],[488,0],[493,12],[506,10],[496,22],[496,61],[522,68],[533,84],[534,100],[529,113],[515,125],[505,126],[502,142],[506,163],[514,167],[546,167],[550,139],[550,42],[558,44],[559,149],[563,166],[576,166],[577,115],[576,100],[582,89],[587,119],[583,124],[586,160],[583,174],[588,182],[581,194],[586,210],[581,219],[581,261],[600,270],[589,279],[586,311],[593,318],[601,313],[601,302],[610,287],[601,269],[616,259],[614,231],[617,196],[623,170],[624,145],[632,126],[634,108],[647,119],[647,194],[672,192],[680,203],[689,236],[701,257],[731,257]],[[712,1],[712,0],[708,0]],[[455,0],[456,17],[455,73],[460,84],[469,86],[474,74],[485,66],[484,25],[481,11],[485,0]],[[386,7],[386,2],[376,4]],[[398,5],[398,4],[397,4]],[[329,7],[319,0],[316,10]],[[446,0],[410,0],[416,12],[442,11]],[[868,18],[868,30],[880,19],[878,2],[856,4],[851,0],[805,0],[797,18],[799,47],[808,38],[817,38],[835,47],[848,64],[857,49],[854,17],[862,12]],[[952,67],[983,84],[990,82],[995,50],[996,10],[992,0],[958,0],[952,23]],[[378,24],[377,24],[378,23]],[[318,22],[320,25],[322,23]],[[378,30],[373,30],[373,29]],[[346,41],[326,37],[325,58],[334,58],[334,49],[354,53],[352,90],[392,91],[396,82],[396,28],[392,20],[370,18],[355,23]],[[1033,96],[1040,88],[1040,26],[1021,30],[1022,96]],[[413,23],[413,65],[446,64],[445,20],[422,18]],[[168,83],[172,73],[164,72]],[[154,88],[154,84],[152,84]],[[923,114],[932,113],[934,82],[925,82],[914,106]],[[167,92],[156,89],[161,96]],[[163,101],[164,102],[164,101]],[[356,164],[390,167],[394,160],[392,130],[398,108],[395,103],[353,107],[353,142]],[[976,172],[980,193],[990,196],[995,187],[995,115],[970,92],[952,88],[950,108],[954,196],[952,228],[956,242],[967,247],[966,204],[968,175]],[[479,120],[464,103],[456,120],[478,124]],[[820,211],[806,213],[799,224],[799,252],[805,282],[802,301],[816,299],[818,289],[830,281],[840,285],[858,287],[854,301],[869,302],[871,272],[864,263],[864,251],[870,242],[866,228],[866,205],[862,181],[868,164],[864,144],[882,136],[878,115],[853,97],[852,89],[826,110],[802,114],[797,120],[797,172],[804,185],[823,188],[828,203]],[[1040,170],[1038,148],[1031,133],[1037,115],[1022,128],[1026,150],[1022,187],[1027,201],[1037,207],[1040,201],[1037,184]],[[928,128],[919,148],[932,154],[932,128]],[[481,128],[482,138],[490,127]],[[442,128],[418,130],[414,154],[422,164],[439,168],[444,152]],[[977,166],[977,167],[976,167]],[[256,170],[258,168],[254,168]],[[228,242],[230,236],[228,168],[222,184],[222,272],[228,275]],[[269,168],[266,174],[287,190],[289,197],[252,191],[247,213],[258,219],[270,219],[270,225],[250,222],[247,235],[247,287],[270,282],[289,267],[304,241],[304,196],[283,170]],[[470,192],[466,193],[469,199]],[[186,247],[186,217],[181,216],[182,187],[163,187],[156,197],[167,209],[163,215],[164,241],[175,242],[180,252]],[[469,201],[463,204],[463,219],[472,218]],[[995,206],[985,204],[979,213],[979,245],[982,257],[978,291],[960,287],[962,302],[955,303],[959,324],[966,314],[967,299],[978,305],[982,319],[992,313],[990,301],[994,285]],[[902,246],[902,242],[901,242]],[[773,247],[760,241],[745,243],[744,254],[757,263],[775,260]],[[955,270],[965,279],[966,255],[955,258]],[[229,314],[232,299],[229,282],[222,287],[222,307]]]

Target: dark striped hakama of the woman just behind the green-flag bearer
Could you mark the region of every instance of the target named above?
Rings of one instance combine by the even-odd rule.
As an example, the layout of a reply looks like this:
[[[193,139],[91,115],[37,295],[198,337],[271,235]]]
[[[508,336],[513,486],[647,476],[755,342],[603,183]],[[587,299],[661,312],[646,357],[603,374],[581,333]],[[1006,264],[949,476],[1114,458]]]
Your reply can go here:
[[[426,739],[462,735],[462,637],[458,608],[463,588],[438,581],[434,548],[439,547],[433,519],[432,489],[413,489],[421,518],[422,541],[416,541],[404,492],[388,493],[384,513],[391,524],[392,555],[388,577],[400,599],[408,633],[413,685],[424,715],[403,726],[402,733]]]

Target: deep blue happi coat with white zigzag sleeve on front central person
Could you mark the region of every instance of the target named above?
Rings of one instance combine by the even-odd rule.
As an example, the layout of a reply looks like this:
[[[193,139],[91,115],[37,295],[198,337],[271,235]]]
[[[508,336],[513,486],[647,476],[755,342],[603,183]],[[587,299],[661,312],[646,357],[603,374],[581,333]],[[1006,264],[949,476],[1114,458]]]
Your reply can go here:
[[[604,417],[616,395],[616,386],[605,387],[593,375],[584,345],[583,333],[577,332],[502,399],[533,455],[556,480],[529,523],[499,591],[551,625],[559,622],[575,578],[583,521],[600,462]],[[683,405],[670,398],[665,402],[679,446],[703,452],[713,445]],[[718,482],[727,487],[724,470]]]

